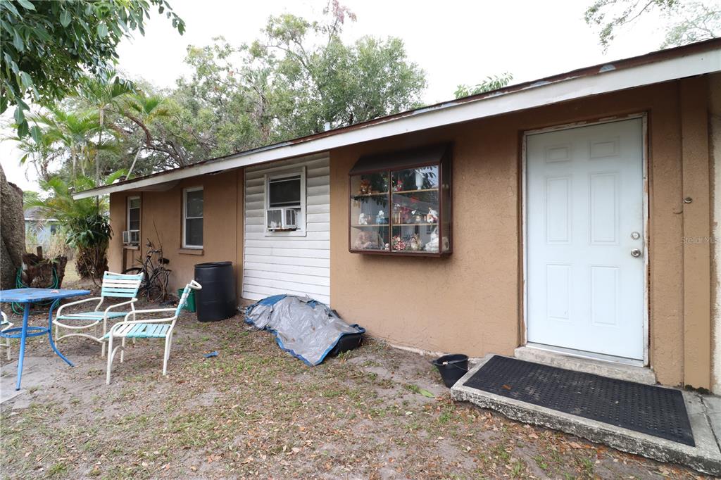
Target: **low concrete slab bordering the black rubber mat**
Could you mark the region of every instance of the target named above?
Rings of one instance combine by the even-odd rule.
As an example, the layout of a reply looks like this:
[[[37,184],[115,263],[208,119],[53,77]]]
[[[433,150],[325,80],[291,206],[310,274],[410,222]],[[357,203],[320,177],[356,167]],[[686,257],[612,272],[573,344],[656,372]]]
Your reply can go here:
[[[469,401],[519,422],[560,430],[624,452],[680,463],[704,474],[721,476],[721,398],[683,392],[696,442],[696,446],[691,447],[464,386],[490,357],[492,355],[484,357],[451,388],[454,400]]]

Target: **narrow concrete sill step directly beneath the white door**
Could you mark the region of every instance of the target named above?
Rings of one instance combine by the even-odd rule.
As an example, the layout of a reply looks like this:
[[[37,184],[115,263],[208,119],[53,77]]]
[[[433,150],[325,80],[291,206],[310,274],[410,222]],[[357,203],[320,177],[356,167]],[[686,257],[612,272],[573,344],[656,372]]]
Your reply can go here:
[[[617,378],[629,382],[656,384],[656,374],[650,368],[607,362],[595,358],[580,357],[563,352],[554,352],[537,347],[518,347],[513,352],[518,360],[542,363],[552,367],[575,370],[577,372],[594,373],[602,377]]]

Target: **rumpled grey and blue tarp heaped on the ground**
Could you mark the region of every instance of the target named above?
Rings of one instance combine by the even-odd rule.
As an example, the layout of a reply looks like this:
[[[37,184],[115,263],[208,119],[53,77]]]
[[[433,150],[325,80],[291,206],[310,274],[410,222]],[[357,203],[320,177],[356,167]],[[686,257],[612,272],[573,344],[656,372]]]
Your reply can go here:
[[[245,322],[273,333],[282,350],[311,366],[322,363],[345,335],[366,333],[324,303],[294,295],[263,298],[246,309]]]

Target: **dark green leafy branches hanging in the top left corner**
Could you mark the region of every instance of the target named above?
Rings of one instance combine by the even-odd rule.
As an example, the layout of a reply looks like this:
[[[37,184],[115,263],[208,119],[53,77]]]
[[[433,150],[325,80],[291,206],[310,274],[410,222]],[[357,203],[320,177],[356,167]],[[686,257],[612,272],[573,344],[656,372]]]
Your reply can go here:
[[[0,1],[0,114],[16,107],[17,135],[30,131],[27,102],[52,105],[85,74],[110,71],[120,40],[144,35],[151,7],[182,35],[185,22],[166,0]]]

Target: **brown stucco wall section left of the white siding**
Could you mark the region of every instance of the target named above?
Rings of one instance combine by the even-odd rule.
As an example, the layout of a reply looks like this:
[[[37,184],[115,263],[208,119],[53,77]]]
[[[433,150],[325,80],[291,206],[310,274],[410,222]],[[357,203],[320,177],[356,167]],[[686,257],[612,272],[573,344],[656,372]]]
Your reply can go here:
[[[198,186],[203,186],[203,250],[193,252],[181,248],[182,189]],[[113,231],[108,252],[110,270],[120,271],[122,268],[121,232],[126,229],[125,199],[140,195],[142,250],[133,252],[135,258],[145,252],[148,238],[156,246],[162,244],[164,257],[170,260],[168,268],[172,270],[170,286],[173,289],[182,288],[193,278],[196,263],[229,260],[234,263],[236,290],[240,291],[243,241],[242,189],[242,170],[233,170],[184,179],[166,192],[121,192],[110,195],[110,220]],[[128,261],[128,264],[130,263]]]

